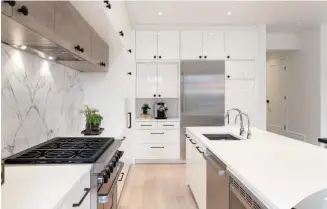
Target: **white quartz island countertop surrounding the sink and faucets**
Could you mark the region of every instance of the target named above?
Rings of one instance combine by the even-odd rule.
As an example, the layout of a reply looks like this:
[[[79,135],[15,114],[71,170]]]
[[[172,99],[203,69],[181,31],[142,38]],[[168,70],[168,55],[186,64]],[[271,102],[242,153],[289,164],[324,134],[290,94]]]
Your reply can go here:
[[[239,128],[188,127],[268,208],[290,209],[327,188],[327,149],[252,128],[252,139],[210,141],[202,134]]]

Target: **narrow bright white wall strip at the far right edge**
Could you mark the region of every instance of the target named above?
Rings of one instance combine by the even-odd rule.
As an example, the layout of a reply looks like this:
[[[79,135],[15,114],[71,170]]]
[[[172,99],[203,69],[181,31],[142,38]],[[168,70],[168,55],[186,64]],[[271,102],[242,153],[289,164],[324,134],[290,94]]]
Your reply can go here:
[[[321,137],[327,138],[327,24],[321,27]]]

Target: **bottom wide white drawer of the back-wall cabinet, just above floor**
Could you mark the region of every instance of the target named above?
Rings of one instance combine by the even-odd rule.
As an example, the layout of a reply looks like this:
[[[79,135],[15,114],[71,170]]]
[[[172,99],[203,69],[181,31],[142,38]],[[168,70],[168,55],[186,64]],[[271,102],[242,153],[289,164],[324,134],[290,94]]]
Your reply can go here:
[[[179,159],[179,143],[138,144],[137,159]]]

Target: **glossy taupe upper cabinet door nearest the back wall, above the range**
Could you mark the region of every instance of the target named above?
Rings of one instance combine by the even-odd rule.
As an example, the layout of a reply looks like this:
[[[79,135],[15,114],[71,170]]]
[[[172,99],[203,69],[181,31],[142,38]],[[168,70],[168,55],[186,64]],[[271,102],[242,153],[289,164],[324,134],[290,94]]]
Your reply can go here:
[[[98,60],[98,65],[103,68],[108,68],[109,66],[109,46],[107,43],[98,35],[97,32],[92,33],[92,57]],[[103,66],[104,64],[104,66]]]

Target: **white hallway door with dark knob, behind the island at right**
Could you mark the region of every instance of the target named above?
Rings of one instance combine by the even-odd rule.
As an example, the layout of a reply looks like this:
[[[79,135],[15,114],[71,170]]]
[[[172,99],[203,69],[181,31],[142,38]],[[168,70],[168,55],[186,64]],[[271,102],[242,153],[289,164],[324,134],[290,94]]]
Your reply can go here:
[[[267,62],[267,130],[285,135],[287,70],[283,56],[271,56]]]

